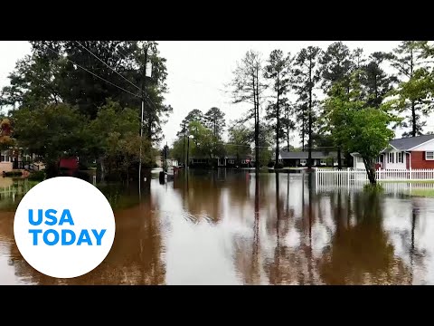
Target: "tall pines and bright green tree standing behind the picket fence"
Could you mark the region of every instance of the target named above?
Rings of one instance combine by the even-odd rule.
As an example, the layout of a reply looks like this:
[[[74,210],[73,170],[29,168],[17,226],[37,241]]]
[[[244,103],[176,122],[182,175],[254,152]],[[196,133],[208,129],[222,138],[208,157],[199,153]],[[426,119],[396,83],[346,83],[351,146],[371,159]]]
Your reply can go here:
[[[281,141],[289,149],[289,133],[297,130],[302,150],[308,151],[308,168],[316,148],[337,149],[339,168],[342,156],[359,152],[375,183],[375,158],[394,130],[406,129],[403,137],[421,135],[423,118],[434,109],[433,58],[427,41],[404,41],[391,53],[369,55],[342,42],[325,51],[316,46],[295,54],[274,50],[266,60],[249,51],[233,72],[231,92],[234,103],[251,107],[241,123],[254,122],[257,156],[259,111],[265,107],[276,156]]]

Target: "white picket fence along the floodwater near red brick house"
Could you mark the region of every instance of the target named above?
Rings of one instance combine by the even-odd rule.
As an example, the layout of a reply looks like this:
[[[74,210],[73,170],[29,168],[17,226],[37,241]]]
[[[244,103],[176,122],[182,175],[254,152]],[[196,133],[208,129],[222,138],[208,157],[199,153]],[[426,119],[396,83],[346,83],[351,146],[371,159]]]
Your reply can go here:
[[[378,181],[434,181],[434,169],[388,169],[375,172]],[[369,182],[365,169],[316,168],[316,187],[355,186]]]

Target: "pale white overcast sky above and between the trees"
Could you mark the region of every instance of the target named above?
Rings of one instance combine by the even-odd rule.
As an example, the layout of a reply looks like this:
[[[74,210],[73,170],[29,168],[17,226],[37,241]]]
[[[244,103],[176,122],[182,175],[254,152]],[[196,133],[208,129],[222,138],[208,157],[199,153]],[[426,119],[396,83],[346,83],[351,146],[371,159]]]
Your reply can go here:
[[[225,92],[225,84],[231,82],[232,71],[250,49],[259,51],[266,59],[272,50],[297,53],[303,47],[316,45],[325,50],[334,41],[160,41],[160,54],[167,60],[167,85],[169,93],[166,103],[172,105],[174,113],[163,126],[165,140],[169,144],[175,139],[181,120],[193,109],[205,112],[213,106],[230,120],[245,114],[246,106],[231,104],[231,96]],[[390,52],[397,41],[348,41],[350,49],[361,47],[365,54]],[[30,43],[24,41],[0,42],[0,88],[9,84],[7,75],[14,70],[15,62],[30,53]],[[434,125],[434,123],[428,123]],[[433,129],[429,127],[425,131]],[[294,135],[295,141],[298,141]],[[397,134],[401,137],[401,133]]]

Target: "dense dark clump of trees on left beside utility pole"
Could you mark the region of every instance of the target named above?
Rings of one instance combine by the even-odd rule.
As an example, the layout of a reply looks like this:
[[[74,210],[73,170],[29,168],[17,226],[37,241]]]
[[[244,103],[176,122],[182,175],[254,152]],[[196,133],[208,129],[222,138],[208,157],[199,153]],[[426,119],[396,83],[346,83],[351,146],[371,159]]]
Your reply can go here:
[[[0,94],[0,105],[10,109],[14,144],[37,155],[51,176],[59,173],[61,157],[97,161],[105,175],[130,177],[140,159],[152,167],[162,125],[172,112],[164,104],[167,71],[158,44],[31,43],[32,53],[16,62],[10,85]]]

